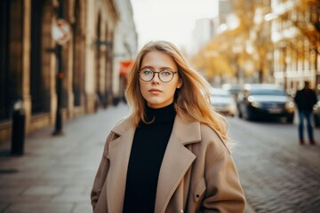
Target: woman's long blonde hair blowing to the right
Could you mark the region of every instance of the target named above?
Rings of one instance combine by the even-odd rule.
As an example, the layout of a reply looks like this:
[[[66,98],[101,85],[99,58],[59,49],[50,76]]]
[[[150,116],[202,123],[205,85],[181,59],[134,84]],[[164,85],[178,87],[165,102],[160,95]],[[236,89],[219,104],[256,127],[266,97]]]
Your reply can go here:
[[[191,68],[182,57],[180,51],[172,43],[157,41],[144,45],[137,58],[132,63],[128,76],[128,86],[125,97],[131,107],[136,125],[145,120],[145,99],[140,92],[139,75],[141,62],[149,51],[162,51],[172,57],[178,67],[182,86],[177,89],[174,107],[183,119],[207,124],[220,133],[221,138],[228,140],[226,119],[212,108],[210,104],[210,84]]]

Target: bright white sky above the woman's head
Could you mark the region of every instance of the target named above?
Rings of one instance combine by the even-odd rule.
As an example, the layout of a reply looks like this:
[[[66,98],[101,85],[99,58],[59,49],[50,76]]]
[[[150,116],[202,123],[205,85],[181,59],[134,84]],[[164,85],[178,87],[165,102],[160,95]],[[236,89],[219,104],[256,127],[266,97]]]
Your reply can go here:
[[[188,49],[195,22],[217,14],[217,0],[131,0],[139,49],[166,40]]]

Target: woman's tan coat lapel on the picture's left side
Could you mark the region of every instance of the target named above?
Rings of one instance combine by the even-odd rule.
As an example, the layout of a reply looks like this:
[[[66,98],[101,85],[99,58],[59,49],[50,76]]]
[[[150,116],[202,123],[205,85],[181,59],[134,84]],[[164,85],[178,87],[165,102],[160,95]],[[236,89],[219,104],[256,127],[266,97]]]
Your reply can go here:
[[[128,123],[132,123],[129,118],[118,124],[114,133],[119,138],[112,141],[109,145],[108,159],[110,168],[107,177],[107,203],[108,212],[122,212],[124,205],[125,182],[127,168],[131,154],[132,140],[135,128]]]

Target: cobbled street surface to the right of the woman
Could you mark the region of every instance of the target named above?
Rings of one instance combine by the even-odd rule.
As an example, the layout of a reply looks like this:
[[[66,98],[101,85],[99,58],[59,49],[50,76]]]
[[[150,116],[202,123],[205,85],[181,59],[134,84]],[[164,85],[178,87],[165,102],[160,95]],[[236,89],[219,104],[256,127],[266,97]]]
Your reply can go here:
[[[230,121],[234,158],[257,213],[320,212],[320,146],[300,146],[297,125]],[[315,130],[320,142],[320,130]]]

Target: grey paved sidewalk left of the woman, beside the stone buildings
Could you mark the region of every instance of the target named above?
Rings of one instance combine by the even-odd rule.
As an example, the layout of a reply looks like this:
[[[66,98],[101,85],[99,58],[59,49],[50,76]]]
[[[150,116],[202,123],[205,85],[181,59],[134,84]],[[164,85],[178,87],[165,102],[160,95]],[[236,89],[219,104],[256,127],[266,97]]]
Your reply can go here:
[[[52,127],[26,138],[25,154],[0,146],[0,212],[92,212],[90,192],[109,130],[124,115],[124,104],[64,123],[65,135]]]

